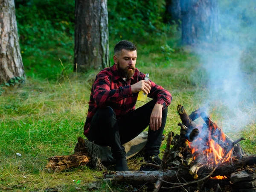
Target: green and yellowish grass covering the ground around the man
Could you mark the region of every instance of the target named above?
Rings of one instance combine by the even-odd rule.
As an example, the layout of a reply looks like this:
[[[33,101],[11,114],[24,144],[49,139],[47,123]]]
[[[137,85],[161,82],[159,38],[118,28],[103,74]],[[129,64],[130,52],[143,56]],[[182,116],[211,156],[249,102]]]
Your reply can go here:
[[[150,79],[169,90],[173,96],[164,133],[167,135],[169,131],[174,131],[179,134],[177,105],[183,105],[188,113],[201,107],[204,99],[209,96],[205,88],[206,74],[198,56],[191,52],[177,49],[166,57],[166,52],[160,46],[141,47],[137,68],[143,73],[150,73]],[[140,46],[138,49],[140,50]],[[96,191],[121,191],[119,186],[113,187],[102,182],[101,171],[86,166],[65,172],[49,172],[45,169],[47,158],[72,154],[77,137],[84,137],[83,125],[90,88],[99,71],[70,73],[71,59],[65,60],[67,63],[63,65],[67,70],[64,70],[59,58],[47,58],[46,63],[55,62],[55,72],[48,71],[54,70],[50,68],[50,62],[45,69],[38,68],[36,71],[41,70],[43,74],[56,73],[58,78],[42,79],[33,75],[28,64],[32,60],[29,59],[31,58],[23,58],[28,71],[26,83],[11,88],[3,87],[4,92],[0,96],[0,189],[76,191],[76,187],[79,187],[89,190],[89,184],[98,180]],[[253,84],[254,88],[255,86]],[[140,105],[142,104],[138,106]],[[225,110],[225,106],[221,103],[212,105],[212,120],[217,124],[221,123],[223,117],[220,112]],[[242,148],[253,154],[256,150],[255,132],[256,125],[252,122],[244,130],[227,134],[233,139],[245,137],[247,140],[241,142]],[[166,141],[163,141],[161,155],[165,144]],[[16,153],[22,156],[18,157]],[[130,160],[130,166],[138,160]],[[81,183],[76,184],[73,180],[81,180]]]

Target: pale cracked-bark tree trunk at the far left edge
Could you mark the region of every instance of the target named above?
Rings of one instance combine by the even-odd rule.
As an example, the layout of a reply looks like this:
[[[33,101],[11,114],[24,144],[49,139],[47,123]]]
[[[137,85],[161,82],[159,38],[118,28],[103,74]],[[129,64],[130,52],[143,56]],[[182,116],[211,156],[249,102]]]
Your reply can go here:
[[[14,0],[0,0],[0,84],[24,76]]]

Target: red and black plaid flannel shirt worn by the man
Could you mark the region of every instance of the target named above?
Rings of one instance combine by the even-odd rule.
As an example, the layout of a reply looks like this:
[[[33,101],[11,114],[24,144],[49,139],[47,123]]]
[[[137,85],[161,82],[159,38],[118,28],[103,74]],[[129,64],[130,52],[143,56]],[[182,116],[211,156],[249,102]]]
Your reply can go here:
[[[124,81],[119,76],[116,65],[101,70],[93,83],[86,122],[84,124],[84,135],[88,136],[90,122],[97,109],[102,106],[110,106],[116,113],[116,118],[135,110],[138,93],[131,92],[131,85],[145,78],[145,74],[138,69],[135,70],[131,79]],[[157,99],[157,103],[166,108],[172,101],[172,95],[163,87],[151,81],[151,90],[148,97]]]

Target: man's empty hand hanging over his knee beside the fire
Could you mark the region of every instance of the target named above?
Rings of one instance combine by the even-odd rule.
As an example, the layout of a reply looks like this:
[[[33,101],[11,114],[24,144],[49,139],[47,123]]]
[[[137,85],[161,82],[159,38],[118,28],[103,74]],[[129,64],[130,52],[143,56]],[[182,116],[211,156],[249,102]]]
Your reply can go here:
[[[149,126],[153,131],[158,130],[162,125],[162,109],[163,105],[157,103],[151,112]]]

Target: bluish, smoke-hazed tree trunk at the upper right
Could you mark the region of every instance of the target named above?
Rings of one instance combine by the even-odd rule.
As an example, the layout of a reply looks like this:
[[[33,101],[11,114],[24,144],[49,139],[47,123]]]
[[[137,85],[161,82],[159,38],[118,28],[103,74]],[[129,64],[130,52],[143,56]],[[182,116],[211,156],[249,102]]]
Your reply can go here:
[[[217,0],[180,0],[182,42],[195,45],[212,41],[219,30]]]

